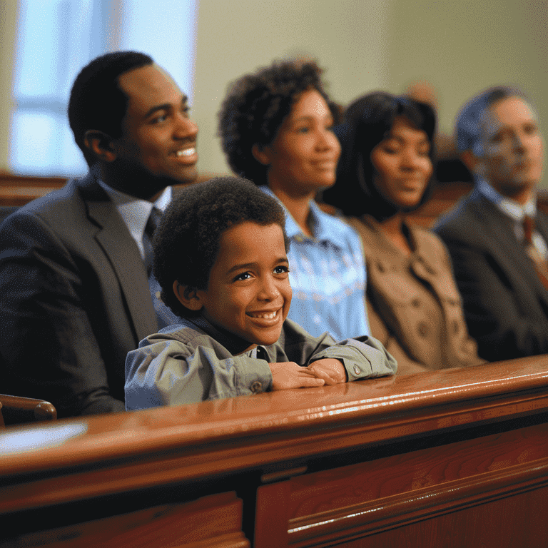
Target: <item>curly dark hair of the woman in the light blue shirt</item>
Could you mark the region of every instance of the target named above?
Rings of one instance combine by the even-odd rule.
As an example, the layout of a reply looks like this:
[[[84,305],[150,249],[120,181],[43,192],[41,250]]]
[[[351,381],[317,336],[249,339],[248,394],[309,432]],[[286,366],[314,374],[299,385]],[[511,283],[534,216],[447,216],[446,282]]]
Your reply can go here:
[[[337,123],[339,108],[325,93],[321,74],[315,61],[283,61],[230,84],[218,116],[223,151],[234,173],[257,185],[267,183],[268,166],[255,159],[251,148],[272,144],[303,91],[318,91]]]

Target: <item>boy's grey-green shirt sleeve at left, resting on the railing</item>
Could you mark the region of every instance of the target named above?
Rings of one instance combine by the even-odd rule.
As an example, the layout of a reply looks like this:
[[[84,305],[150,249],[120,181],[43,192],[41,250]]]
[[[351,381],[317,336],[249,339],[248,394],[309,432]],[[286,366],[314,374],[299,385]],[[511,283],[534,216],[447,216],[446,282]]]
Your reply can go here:
[[[181,405],[270,390],[268,362],[249,355],[219,357],[215,345],[141,341],[126,360],[126,409]]]

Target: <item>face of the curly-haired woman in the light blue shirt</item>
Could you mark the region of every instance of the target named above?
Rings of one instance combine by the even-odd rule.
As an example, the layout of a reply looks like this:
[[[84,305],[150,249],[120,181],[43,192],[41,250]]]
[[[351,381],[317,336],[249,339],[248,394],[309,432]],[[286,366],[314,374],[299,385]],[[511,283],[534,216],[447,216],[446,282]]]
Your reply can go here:
[[[333,116],[315,89],[301,93],[273,143],[255,157],[269,166],[268,186],[277,193],[313,196],[335,183],[340,144]]]

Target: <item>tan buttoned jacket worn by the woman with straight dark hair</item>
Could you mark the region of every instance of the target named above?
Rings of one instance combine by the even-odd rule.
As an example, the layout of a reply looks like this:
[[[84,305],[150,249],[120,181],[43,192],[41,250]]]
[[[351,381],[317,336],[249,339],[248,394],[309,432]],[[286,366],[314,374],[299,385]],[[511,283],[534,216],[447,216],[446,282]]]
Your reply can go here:
[[[408,227],[414,251],[407,256],[369,215],[349,223],[364,247],[371,334],[396,358],[398,375],[482,363],[440,238]]]

